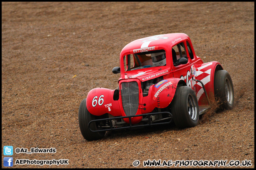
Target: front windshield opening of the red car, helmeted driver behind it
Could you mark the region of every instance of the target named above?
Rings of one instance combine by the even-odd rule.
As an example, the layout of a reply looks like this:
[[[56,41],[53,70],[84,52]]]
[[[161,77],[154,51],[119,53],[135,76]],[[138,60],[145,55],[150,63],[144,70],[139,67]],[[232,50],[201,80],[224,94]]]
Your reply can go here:
[[[125,71],[166,66],[166,54],[164,50],[128,54],[123,57],[123,60]]]

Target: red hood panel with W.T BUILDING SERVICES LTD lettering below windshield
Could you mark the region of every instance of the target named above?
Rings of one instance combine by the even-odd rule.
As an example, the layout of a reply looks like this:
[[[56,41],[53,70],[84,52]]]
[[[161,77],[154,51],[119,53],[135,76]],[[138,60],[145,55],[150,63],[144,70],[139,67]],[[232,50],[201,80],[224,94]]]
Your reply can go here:
[[[147,69],[138,69],[131,70],[121,74],[121,79],[139,79],[140,81],[147,81],[150,79],[155,79],[162,75],[166,75],[170,73],[170,68],[167,66],[157,67],[157,68],[147,68]]]

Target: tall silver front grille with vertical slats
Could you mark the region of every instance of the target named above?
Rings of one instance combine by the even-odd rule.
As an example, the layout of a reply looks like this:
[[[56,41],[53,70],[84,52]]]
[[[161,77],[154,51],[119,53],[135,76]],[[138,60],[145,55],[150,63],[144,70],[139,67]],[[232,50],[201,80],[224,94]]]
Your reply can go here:
[[[139,86],[136,81],[121,83],[121,97],[124,113],[135,115],[139,107]]]

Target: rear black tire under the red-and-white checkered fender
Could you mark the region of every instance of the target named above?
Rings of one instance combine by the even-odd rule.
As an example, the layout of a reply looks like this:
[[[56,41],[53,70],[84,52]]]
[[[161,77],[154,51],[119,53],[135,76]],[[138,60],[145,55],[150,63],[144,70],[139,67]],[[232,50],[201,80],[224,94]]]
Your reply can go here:
[[[214,74],[214,96],[220,100],[220,108],[231,110],[234,107],[234,89],[229,73],[226,70],[218,70]]]

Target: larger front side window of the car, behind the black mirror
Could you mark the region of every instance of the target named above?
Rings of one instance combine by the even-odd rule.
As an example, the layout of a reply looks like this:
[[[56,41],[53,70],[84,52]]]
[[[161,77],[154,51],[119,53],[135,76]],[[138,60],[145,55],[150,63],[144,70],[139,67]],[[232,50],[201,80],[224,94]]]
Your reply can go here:
[[[187,53],[186,53],[183,42],[172,47],[172,61],[174,63],[174,66],[178,63],[178,60],[182,57],[187,58]]]

